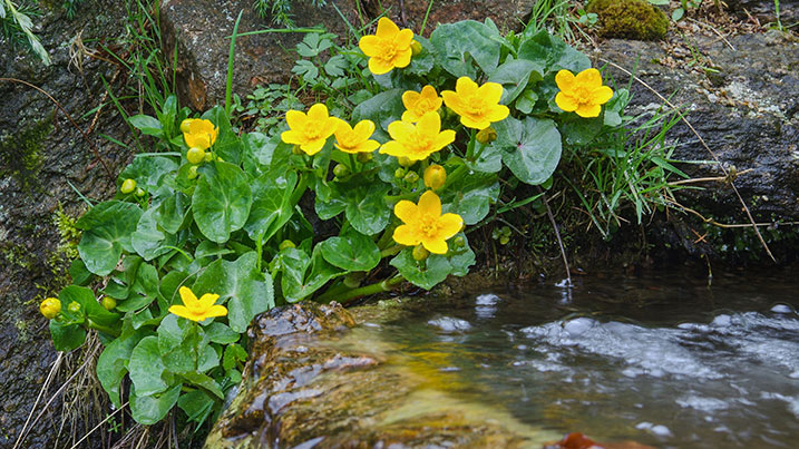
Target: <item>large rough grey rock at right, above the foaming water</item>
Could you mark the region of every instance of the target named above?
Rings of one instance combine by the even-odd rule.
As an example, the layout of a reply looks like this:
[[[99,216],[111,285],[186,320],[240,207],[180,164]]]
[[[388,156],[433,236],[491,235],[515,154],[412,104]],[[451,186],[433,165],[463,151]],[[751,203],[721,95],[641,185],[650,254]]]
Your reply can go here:
[[[799,41],[779,31],[735,36],[728,39],[729,45],[718,37],[692,36],[690,39],[704,59],[691,62],[691,52],[676,57],[674,51],[668,53],[665,46],[652,42],[608,40],[596,53],[601,58],[597,65],[607,60],[629,70],[637,67],[637,77],[654,90],[664,97],[674,92],[672,104],[684,111],[720,162],[728,169],[734,167],[737,173],[751,169],[741,173],[734,185],[758,222],[799,219],[799,103],[796,97]],[[701,66],[708,69],[702,71]],[[621,70],[608,66],[607,71],[616,85],[627,82],[629,77]],[[637,82],[632,84],[632,91],[630,115],[651,116],[662,105],[660,98]],[[674,159],[713,160],[683,123],[669,131],[666,143],[676,144]],[[723,177],[715,163],[679,166],[693,178]],[[749,222],[734,192],[724,182],[694,186],[704,188],[676,192],[681,204],[721,223]],[[683,244],[698,237],[689,232],[698,226],[693,223],[678,228],[684,234]],[[766,232],[764,227],[761,230]],[[786,235],[791,234],[789,228],[782,230]],[[751,251],[761,251],[757,241],[748,245]],[[771,250],[782,251],[786,256],[791,251],[789,245],[772,245]],[[700,253],[708,251],[711,248]]]

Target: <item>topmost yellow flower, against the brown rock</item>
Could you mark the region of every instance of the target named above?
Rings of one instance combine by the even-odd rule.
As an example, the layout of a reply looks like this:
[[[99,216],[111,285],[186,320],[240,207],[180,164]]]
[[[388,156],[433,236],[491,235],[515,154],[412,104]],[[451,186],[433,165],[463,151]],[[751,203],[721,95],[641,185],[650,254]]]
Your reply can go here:
[[[410,64],[412,40],[413,31],[408,28],[400,30],[390,19],[381,17],[377,32],[362,37],[358,47],[369,57],[369,70],[382,75]]]

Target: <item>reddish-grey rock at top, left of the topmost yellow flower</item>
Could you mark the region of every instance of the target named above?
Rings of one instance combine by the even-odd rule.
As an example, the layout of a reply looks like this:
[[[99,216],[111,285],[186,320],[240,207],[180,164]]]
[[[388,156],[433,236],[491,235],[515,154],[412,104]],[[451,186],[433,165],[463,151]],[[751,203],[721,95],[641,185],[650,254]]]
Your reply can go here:
[[[309,1],[293,1],[298,27],[324,26],[344,36],[347,25],[333,8],[339,8],[350,23],[357,23],[354,4],[330,0],[316,8]],[[225,101],[227,59],[238,12],[238,33],[273,28],[271,19],[260,18],[252,0],[165,0],[160,8],[160,27],[166,55],[177,47],[177,91],[181,103],[205,110]],[[292,77],[302,32],[272,32],[242,36],[236,39],[233,66],[233,91],[250,94],[256,85],[288,82]]]

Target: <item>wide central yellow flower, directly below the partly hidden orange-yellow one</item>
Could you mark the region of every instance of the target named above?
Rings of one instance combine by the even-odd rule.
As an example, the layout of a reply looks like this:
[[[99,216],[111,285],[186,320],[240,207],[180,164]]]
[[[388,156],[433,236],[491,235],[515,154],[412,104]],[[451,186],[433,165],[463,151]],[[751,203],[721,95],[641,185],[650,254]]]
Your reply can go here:
[[[389,135],[393,140],[383,144],[380,153],[411,162],[423,160],[455,141],[454,130],[441,130],[441,117],[437,113],[425,114],[416,125],[393,121],[389,125]]]

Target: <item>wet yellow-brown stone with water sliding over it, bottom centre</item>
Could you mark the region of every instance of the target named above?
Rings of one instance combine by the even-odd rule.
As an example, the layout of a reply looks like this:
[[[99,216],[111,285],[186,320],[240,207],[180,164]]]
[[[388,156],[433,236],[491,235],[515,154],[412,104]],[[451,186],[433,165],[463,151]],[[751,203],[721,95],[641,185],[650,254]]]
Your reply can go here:
[[[262,314],[244,381],[205,447],[518,448],[552,437],[500,408],[459,400],[439,373],[355,326],[410,309],[302,303]]]

